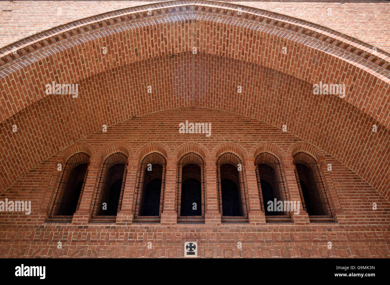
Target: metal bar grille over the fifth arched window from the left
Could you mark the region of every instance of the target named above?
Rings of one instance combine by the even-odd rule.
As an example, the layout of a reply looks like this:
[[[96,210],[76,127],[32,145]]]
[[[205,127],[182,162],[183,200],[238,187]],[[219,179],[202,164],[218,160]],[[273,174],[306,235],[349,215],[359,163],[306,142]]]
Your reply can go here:
[[[235,162],[233,162],[230,159],[231,163],[222,163],[222,160],[224,159],[224,156],[230,156]],[[234,206],[239,206],[242,210],[243,216],[223,216],[223,202],[222,202],[222,185],[221,185],[221,170],[220,167],[224,164],[231,164],[233,165],[236,169],[238,169],[238,164],[241,164],[242,170],[237,171],[241,172],[238,173],[238,178],[239,178],[239,183],[238,185],[238,191],[239,191],[239,196],[240,196],[240,202],[239,203],[230,203],[229,207],[234,208]],[[217,180],[218,180],[218,205],[219,205],[219,210],[220,213],[222,214],[222,222],[228,222],[228,221],[243,221],[243,220],[248,220],[248,207],[246,204],[246,199],[247,199],[247,193],[246,193],[246,188],[245,188],[245,183],[244,183],[244,174],[243,174],[243,163],[241,162],[241,159],[235,155],[234,153],[224,153],[222,154],[218,160],[217,160]],[[225,204],[226,206],[226,204]]]

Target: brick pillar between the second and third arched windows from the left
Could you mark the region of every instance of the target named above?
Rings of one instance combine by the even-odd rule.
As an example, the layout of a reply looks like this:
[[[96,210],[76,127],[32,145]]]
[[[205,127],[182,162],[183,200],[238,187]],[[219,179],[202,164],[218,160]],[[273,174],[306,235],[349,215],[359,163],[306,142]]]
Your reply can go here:
[[[117,213],[117,225],[131,225],[134,220],[134,195],[137,187],[138,160],[129,161],[122,195],[121,209]]]

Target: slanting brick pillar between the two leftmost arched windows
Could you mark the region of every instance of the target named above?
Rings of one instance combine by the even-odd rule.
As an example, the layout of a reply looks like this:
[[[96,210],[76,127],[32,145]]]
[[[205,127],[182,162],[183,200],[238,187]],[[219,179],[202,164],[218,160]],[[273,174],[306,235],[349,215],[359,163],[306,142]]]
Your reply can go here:
[[[72,224],[85,225],[90,222],[92,205],[94,203],[94,197],[99,183],[100,171],[102,167],[101,158],[92,158],[88,166],[87,180],[83,194],[80,201],[80,207],[74,213]]]

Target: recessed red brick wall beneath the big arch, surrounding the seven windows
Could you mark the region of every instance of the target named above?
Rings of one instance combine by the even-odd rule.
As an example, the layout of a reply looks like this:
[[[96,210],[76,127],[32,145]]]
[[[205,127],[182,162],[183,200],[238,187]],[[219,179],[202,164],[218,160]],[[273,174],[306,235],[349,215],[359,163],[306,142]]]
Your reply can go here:
[[[211,137],[205,137],[204,134],[179,134],[178,125],[185,120],[211,123]],[[271,144],[262,143],[259,148],[259,142],[264,141]],[[231,150],[243,156],[241,159],[244,163],[248,190],[251,185],[256,185],[256,180],[252,181],[251,178],[255,175],[255,157],[251,155],[255,154],[257,149],[268,150],[277,156],[282,155],[279,159],[283,162],[282,172],[286,177],[287,194],[291,199],[297,188],[296,182],[295,186],[293,185],[294,174],[289,171],[292,158],[290,159],[287,153],[289,148],[297,145],[296,142],[299,141],[301,141],[299,137],[284,133],[278,127],[238,114],[202,107],[185,107],[139,116],[111,125],[106,133],[88,135],[82,143],[84,148],[90,149],[91,161],[95,162],[102,161],[105,156],[126,146],[129,153],[128,169],[132,168],[131,165],[138,166],[140,156],[142,158],[144,153],[163,150],[167,158],[167,180],[170,179],[168,177],[170,170],[176,168],[178,154],[183,155],[183,152],[177,151],[183,144],[195,142],[192,143],[192,147],[185,149],[203,152],[206,156],[204,157],[206,169],[208,167],[215,169],[216,158],[213,155],[220,153],[218,149],[222,152]],[[153,145],[151,142],[160,144]],[[221,148],[218,145],[222,143],[224,144]],[[115,144],[118,147],[115,148]],[[110,147],[106,148],[107,145]],[[149,146],[145,148],[145,145]],[[310,151],[310,147],[304,145],[302,144],[300,150],[308,151],[316,157],[314,151]],[[78,147],[70,149],[76,151]],[[303,210],[299,221],[281,224],[265,224],[261,215],[258,225],[255,225],[254,220],[250,220],[250,223],[214,225],[213,221],[207,219],[205,224],[171,225],[139,222],[120,224],[119,219],[116,224],[78,223],[76,220],[72,223],[44,222],[45,206],[50,204],[45,199],[55,192],[53,190],[55,187],[51,188],[50,184],[53,181],[52,176],[58,176],[57,163],[62,161],[62,153],[64,152],[57,153],[34,167],[9,191],[1,194],[3,200],[5,197],[13,200],[32,200],[31,215],[11,212],[0,214],[2,257],[180,257],[184,254],[185,240],[197,240],[202,257],[390,256],[389,202],[330,155],[323,155],[323,159],[326,163],[332,164],[332,171],[328,172],[331,179],[328,182],[332,184],[330,187],[334,187],[332,199],[337,200],[336,204],[340,203],[340,209],[335,212],[337,222],[333,223],[310,223],[307,214],[305,218]],[[101,154],[104,154],[103,158]],[[209,163],[210,161],[213,163]],[[249,166],[251,163],[253,167]],[[93,166],[95,164],[91,165],[90,169],[95,169]],[[320,165],[320,168],[321,166],[323,165]],[[213,176],[209,176],[209,173],[206,171],[206,188],[207,195],[212,195],[210,192],[216,191],[216,184],[212,183]],[[94,190],[96,184],[91,186],[93,183],[90,181],[99,175],[100,170],[95,173],[89,171],[84,193],[96,192]],[[130,174],[126,180],[126,183],[130,181],[129,185],[132,185],[132,188],[125,190],[129,195],[134,193],[136,186],[136,179],[131,177]],[[326,180],[326,177],[323,176],[323,179]],[[257,188],[252,190],[258,195]],[[176,185],[167,183],[165,195],[175,197],[175,192]],[[211,201],[207,198],[206,200]],[[376,210],[372,209],[374,202],[378,205]],[[124,203],[129,204],[126,201]],[[252,216],[255,213],[255,204],[252,199],[250,201]],[[58,241],[62,242],[62,249],[57,249]],[[149,241],[152,248],[147,248]],[[242,243],[242,249],[237,247],[239,241]],[[332,242],[331,249],[328,249],[328,241]]]

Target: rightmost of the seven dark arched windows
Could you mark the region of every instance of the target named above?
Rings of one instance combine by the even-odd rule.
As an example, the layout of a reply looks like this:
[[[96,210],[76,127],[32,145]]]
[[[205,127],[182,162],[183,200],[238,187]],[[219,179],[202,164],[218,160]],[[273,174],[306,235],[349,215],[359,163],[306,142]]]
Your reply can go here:
[[[316,160],[306,153],[297,153],[294,155],[294,164],[303,208],[310,220],[332,219],[332,211]]]

